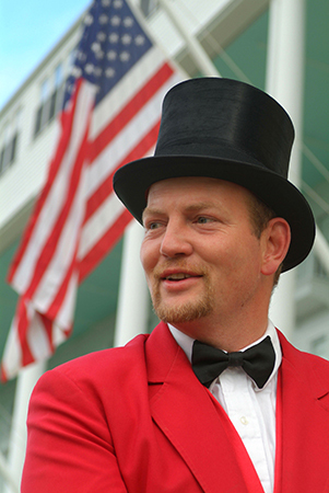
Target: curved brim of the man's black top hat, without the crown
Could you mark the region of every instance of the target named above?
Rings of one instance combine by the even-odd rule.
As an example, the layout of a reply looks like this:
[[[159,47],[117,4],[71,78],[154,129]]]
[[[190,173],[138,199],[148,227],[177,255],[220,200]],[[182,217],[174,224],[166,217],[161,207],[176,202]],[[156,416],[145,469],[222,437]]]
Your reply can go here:
[[[291,228],[291,244],[282,272],[306,259],[314,238],[312,209],[302,193],[285,177],[250,162],[207,156],[154,156],[132,161],[114,177],[114,190],[132,216],[142,223],[148,191],[153,183],[172,177],[205,176],[244,186],[268,205]]]

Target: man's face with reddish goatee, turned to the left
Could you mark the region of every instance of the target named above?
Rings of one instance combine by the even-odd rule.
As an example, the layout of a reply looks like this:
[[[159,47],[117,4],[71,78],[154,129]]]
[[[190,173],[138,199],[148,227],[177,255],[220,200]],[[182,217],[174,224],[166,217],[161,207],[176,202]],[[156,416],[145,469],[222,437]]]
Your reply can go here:
[[[238,185],[207,177],[151,186],[141,261],[160,319],[179,329],[255,309],[262,248],[250,225],[249,196]]]

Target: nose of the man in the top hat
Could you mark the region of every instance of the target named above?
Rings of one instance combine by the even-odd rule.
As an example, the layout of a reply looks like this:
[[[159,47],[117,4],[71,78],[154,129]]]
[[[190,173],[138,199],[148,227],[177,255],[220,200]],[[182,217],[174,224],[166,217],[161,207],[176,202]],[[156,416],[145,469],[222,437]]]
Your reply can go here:
[[[167,257],[190,255],[192,245],[187,228],[179,221],[168,221],[161,242],[160,252]]]

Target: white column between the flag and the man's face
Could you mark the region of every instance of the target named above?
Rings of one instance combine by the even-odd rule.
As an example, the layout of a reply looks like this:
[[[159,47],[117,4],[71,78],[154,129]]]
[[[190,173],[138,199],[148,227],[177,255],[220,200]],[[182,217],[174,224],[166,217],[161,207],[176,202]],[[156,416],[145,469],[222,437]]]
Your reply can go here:
[[[148,326],[149,291],[139,255],[143,234],[136,220],[125,232],[115,346],[122,346]]]

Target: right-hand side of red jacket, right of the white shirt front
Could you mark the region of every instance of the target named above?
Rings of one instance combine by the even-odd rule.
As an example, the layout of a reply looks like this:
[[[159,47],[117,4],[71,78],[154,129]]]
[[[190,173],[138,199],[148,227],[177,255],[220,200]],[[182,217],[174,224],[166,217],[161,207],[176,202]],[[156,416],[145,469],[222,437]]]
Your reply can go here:
[[[279,333],[275,492],[329,489],[329,365]]]

